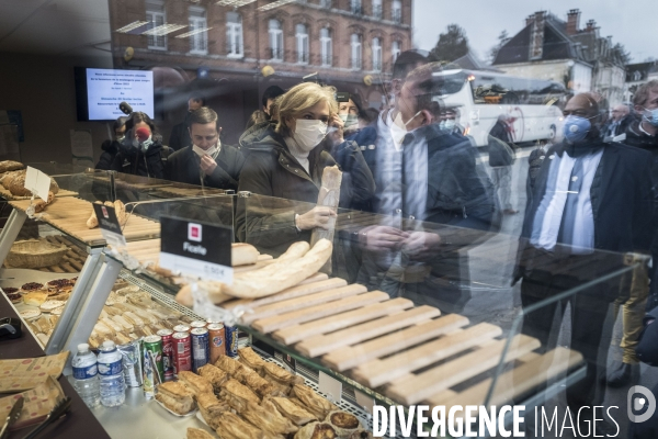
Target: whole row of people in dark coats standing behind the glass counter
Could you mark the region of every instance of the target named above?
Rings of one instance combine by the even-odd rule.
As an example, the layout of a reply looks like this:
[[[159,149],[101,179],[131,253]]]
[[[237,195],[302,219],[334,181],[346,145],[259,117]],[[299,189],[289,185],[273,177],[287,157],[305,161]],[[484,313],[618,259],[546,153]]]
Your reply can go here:
[[[337,165],[343,172],[339,206],[379,215],[355,236],[339,235],[350,254],[343,261],[356,261],[347,267],[350,281],[460,313],[470,299],[464,249],[497,233],[504,214],[517,213],[509,192],[514,151],[501,121],[489,135],[492,169],[484,168],[478,148],[458,130],[458,109],[436,99],[442,83],[433,74],[441,69],[416,53],[400,55],[390,82],[395,99],[375,114],[358,95],[333,87],[273,86],[237,146],[220,142],[216,112],[192,95],[168,147],[146,114],[117,120],[98,168],[315,204],[322,170]],[[570,305],[571,347],[588,364],[586,378],[567,391],[575,410],[601,405],[597,384],[605,370],[598,353],[609,306],[624,307],[624,358],[606,379],[621,386],[638,362],[645,306],[658,304],[658,291],[649,286],[649,279],[658,285],[658,271],[647,267],[658,254],[658,81],[639,87],[633,104],[614,108],[602,123],[597,95],[571,97],[563,110],[564,139],[543,142],[530,157],[514,270],[523,308],[603,278],[622,266],[621,256],[633,255],[638,267],[523,322],[523,333],[549,349],[554,319]],[[310,239],[313,229],[337,215],[326,206],[246,210],[239,202],[237,239],[273,254]]]

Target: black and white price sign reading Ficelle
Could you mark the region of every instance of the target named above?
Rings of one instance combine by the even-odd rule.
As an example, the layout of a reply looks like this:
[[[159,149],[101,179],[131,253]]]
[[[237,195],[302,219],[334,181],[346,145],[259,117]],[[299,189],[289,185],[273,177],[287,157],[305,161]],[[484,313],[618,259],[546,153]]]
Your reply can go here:
[[[203,222],[160,218],[160,267],[232,283],[232,229]]]

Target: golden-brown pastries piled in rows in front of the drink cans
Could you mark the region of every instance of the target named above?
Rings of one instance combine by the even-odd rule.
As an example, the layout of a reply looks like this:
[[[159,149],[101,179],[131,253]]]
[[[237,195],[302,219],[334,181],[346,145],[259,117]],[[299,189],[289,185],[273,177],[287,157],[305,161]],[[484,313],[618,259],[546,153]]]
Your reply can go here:
[[[174,384],[182,383],[186,391],[161,384],[160,402],[180,414],[198,407],[222,439],[372,438],[356,417],[316,394],[302,378],[263,361],[251,348],[238,354],[238,361],[219,357],[215,364],[200,368],[198,375],[181,372]],[[211,437],[198,429],[188,431],[189,439]]]

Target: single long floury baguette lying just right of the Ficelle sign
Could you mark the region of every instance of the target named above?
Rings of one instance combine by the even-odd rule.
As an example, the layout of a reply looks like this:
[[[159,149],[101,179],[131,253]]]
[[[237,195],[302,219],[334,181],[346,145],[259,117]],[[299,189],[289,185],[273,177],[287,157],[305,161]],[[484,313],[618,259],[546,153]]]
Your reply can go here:
[[[258,299],[276,294],[316,273],[331,257],[332,248],[331,241],[320,239],[299,259],[286,262],[277,261],[260,270],[236,274],[231,285],[222,285],[222,292],[242,299]]]

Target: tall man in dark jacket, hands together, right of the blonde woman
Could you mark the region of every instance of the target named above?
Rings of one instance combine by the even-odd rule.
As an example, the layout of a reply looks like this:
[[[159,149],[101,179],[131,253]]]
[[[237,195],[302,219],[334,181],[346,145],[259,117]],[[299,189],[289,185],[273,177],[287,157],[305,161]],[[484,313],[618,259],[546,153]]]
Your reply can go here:
[[[411,71],[395,106],[354,138],[376,184],[379,223],[360,232],[359,282],[417,304],[461,312],[470,297],[464,249],[496,229],[499,205],[478,153],[441,130],[439,64]]]

